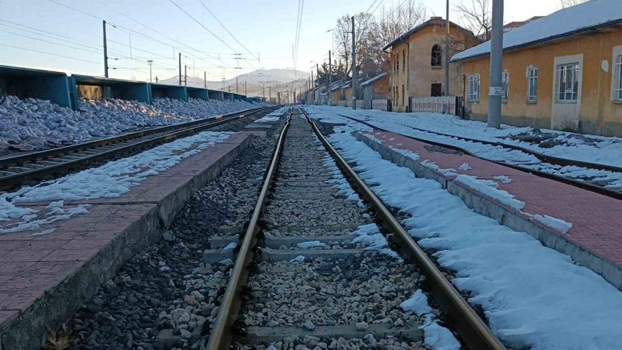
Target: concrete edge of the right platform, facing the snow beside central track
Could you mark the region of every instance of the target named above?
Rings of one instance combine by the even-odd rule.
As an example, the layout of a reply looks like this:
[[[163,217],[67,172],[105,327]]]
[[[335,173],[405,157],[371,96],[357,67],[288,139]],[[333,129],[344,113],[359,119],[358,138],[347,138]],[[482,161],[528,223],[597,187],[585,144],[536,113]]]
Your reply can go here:
[[[458,196],[473,211],[478,214],[497,220],[513,230],[527,232],[538,239],[544,246],[555,249],[569,255],[576,263],[593,270],[603,276],[610,284],[622,290],[622,267],[614,264],[605,257],[594,255],[589,250],[578,246],[576,243],[565,238],[563,232],[558,232],[554,228],[543,225],[535,220],[533,216],[516,210],[487,196],[481,192],[471,189],[469,186],[454,181],[455,176],[435,171],[431,167],[426,167],[420,162],[409,158],[399,151],[386,147],[377,142],[374,138],[366,136],[359,131],[354,133],[357,140],[364,142],[371,149],[377,151],[382,158],[389,160],[401,167],[411,169],[418,177],[435,180],[449,193]],[[455,175],[455,174],[454,174]]]

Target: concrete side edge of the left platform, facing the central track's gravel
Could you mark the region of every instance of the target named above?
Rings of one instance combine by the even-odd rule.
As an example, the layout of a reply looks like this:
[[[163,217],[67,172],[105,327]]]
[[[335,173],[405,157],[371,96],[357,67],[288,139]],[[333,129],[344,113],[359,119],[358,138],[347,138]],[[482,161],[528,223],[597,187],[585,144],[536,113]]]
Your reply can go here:
[[[0,323],[0,350],[39,349],[46,327],[57,329],[75,309],[93,295],[97,286],[111,279],[125,261],[159,241],[176,213],[184,207],[192,194],[205,187],[231,164],[249,146],[253,137],[252,133],[234,133],[227,141],[182,160],[171,169],[192,167],[196,163],[205,164],[205,167],[194,172],[189,180],[167,187],[170,190],[162,192],[157,203],[136,205],[130,201],[128,210],[135,210],[135,214],[120,218],[123,222],[115,225],[119,228],[116,232],[102,228],[102,240],[109,241],[96,254],[83,263],[76,261],[73,270],[64,276],[57,276],[54,285],[47,288],[41,297],[30,300],[28,293],[24,295],[23,302],[29,305],[21,312],[12,313],[8,319],[5,318],[6,322]],[[171,184],[171,178],[166,172],[151,178],[158,176]],[[115,203],[120,204],[122,203]],[[93,205],[89,212],[93,214],[96,207],[97,205]],[[65,222],[70,221],[71,219]]]

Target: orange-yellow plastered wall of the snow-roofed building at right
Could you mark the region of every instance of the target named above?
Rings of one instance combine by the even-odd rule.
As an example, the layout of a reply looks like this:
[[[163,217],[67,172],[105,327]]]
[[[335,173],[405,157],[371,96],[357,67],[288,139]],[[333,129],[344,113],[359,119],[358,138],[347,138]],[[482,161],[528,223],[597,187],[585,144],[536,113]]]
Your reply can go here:
[[[583,86],[574,131],[622,136],[622,104],[612,102],[614,46],[622,45],[622,29],[610,29],[540,46],[504,53],[503,69],[509,72],[508,101],[502,104],[502,122],[529,127],[552,127],[555,57],[583,55]],[[607,61],[609,71],[601,68]],[[485,120],[488,113],[489,57],[457,62],[462,75],[480,73],[480,101],[466,101],[473,120]],[[536,103],[527,103],[527,68],[538,67]]]

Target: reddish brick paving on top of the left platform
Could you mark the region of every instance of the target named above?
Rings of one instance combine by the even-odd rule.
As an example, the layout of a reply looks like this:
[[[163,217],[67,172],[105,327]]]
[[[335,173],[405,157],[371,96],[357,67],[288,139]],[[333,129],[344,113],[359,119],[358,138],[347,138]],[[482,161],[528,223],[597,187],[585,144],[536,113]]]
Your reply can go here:
[[[88,259],[106,247],[117,235],[147,213],[158,202],[185,185],[196,174],[218,161],[247,138],[236,133],[223,143],[182,160],[167,172],[149,176],[141,185],[115,199],[66,201],[66,206],[91,204],[85,214],[44,225],[55,228],[51,234],[32,236],[32,232],[0,235],[0,327],[32,305]],[[26,203],[45,212],[49,202]],[[3,222],[6,227],[10,222]]]

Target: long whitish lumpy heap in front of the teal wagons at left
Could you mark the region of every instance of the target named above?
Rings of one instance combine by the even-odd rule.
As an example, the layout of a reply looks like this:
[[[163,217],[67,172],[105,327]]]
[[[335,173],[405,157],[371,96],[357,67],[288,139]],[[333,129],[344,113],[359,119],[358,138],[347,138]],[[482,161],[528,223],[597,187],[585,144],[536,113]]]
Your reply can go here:
[[[32,151],[115,136],[132,129],[187,122],[256,107],[244,101],[168,98],[154,106],[125,100],[83,100],[78,111],[47,100],[0,96],[0,155],[10,149]]]

